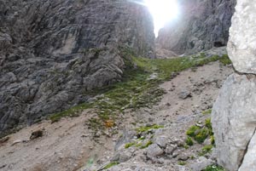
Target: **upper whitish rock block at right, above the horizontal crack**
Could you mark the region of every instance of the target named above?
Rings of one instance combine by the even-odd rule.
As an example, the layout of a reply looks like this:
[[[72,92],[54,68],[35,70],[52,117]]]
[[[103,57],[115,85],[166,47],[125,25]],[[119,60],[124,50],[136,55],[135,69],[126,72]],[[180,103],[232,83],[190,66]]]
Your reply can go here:
[[[256,7],[252,1],[237,1],[232,17],[228,51],[237,71],[256,73]]]

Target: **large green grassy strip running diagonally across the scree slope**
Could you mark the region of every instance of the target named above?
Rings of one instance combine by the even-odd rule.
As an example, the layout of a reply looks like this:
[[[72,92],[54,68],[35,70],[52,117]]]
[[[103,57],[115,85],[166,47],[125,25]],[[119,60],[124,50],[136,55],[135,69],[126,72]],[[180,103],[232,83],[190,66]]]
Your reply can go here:
[[[106,128],[106,125],[112,127],[119,113],[125,109],[151,107],[160,101],[165,91],[159,88],[159,84],[170,80],[173,72],[203,66],[222,59],[219,56],[207,58],[201,54],[195,57],[150,60],[137,58],[131,50],[126,48],[120,50],[120,56],[125,61],[121,82],[95,89],[92,94],[102,94],[96,100],[52,114],[49,116],[51,122],[58,122],[61,117],[77,117],[85,109],[93,108],[96,110],[97,117],[90,119],[90,128]],[[152,74],[156,77],[148,79]]]

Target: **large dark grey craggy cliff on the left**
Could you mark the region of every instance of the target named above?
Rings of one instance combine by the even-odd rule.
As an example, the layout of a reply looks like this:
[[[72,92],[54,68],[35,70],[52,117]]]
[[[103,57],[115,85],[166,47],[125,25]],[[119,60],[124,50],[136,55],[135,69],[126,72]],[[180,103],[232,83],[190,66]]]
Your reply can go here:
[[[148,10],[121,0],[0,0],[0,133],[120,79],[119,46],[154,51]]]

